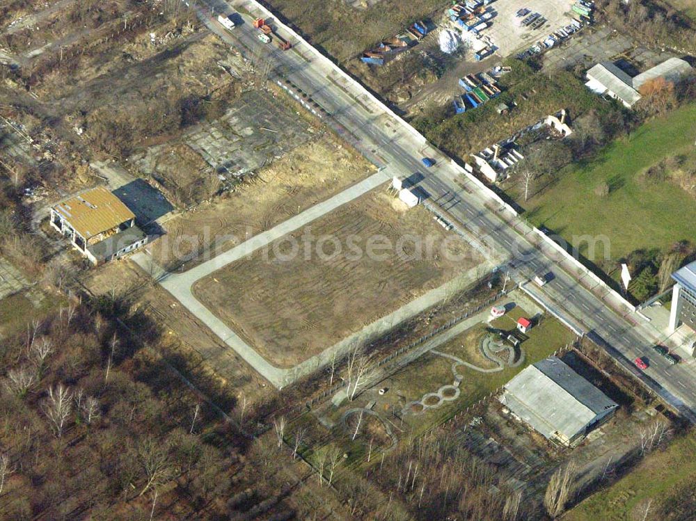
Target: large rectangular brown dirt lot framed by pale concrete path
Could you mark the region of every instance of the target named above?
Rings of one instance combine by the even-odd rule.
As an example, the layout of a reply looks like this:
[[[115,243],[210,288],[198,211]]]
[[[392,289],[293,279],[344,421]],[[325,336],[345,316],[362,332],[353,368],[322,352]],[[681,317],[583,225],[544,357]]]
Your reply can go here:
[[[310,234],[315,239],[307,239]],[[419,255],[413,236],[431,240],[432,251],[423,247]],[[298,255],[287,255],[295,241]],[[374,191],[199,280],[193,292],[260,355],[287,367],[480,260],[425,209],[406,211],[391,195]]]

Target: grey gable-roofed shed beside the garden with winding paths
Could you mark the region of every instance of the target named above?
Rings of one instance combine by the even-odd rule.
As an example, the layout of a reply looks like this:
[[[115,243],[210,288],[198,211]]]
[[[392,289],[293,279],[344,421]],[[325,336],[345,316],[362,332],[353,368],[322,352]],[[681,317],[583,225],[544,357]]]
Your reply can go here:
[[[532,364],[512,378],[500,403],[545,438],[565,445],[583,438],[618,407],[556,357]]]

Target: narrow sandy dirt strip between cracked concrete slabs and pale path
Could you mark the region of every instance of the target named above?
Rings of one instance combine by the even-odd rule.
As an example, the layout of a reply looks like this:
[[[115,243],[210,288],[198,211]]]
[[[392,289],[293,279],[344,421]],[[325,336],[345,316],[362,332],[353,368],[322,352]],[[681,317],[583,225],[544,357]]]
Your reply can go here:
[[[164,268],[191,268],[373,172],[363,157],[326,134],[295,148],[235,191],[171,218],[150,252]]]

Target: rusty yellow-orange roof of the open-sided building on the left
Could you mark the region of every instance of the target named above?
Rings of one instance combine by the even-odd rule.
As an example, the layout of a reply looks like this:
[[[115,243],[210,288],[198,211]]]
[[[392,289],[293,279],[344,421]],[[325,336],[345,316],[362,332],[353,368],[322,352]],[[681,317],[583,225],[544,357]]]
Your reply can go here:
[[[135,218],[133,212],[103,186],[61,202],[54,211],[85,239]]]

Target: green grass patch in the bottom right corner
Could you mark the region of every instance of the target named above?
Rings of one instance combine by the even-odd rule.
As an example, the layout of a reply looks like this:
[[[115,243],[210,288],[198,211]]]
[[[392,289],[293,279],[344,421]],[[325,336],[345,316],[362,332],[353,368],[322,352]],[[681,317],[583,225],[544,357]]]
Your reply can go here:
[[[693,520],[696,498],[696,436],[675,440],[656,451],[606,490],[585,499],[563,516],[564,521],[631,521],[642,519],[652,499],[647,521]]]

